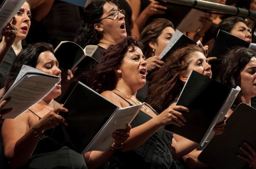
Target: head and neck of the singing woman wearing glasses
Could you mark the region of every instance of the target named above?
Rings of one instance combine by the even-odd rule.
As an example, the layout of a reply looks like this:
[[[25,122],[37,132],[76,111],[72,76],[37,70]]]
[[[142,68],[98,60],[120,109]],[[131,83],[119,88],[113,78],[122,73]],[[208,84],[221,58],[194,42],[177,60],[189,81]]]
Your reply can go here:
[[[126,36],[125,11],[119,9],[117,0],[95,0],[85,9],[83,19],[75,37],[82,48],[98,45],[93,58],[99,61],[103,51],[111,44],[122,41]]]

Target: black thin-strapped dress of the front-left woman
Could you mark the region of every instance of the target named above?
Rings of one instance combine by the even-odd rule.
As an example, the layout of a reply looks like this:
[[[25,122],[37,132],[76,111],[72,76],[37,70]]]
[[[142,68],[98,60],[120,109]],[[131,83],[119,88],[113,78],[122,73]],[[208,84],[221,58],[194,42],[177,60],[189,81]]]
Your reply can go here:
[[[31,112],[34,113],[33,111]],[[40,120],[40,117],[37,117]],[[44,138],[37,143],[29,161],[19,169],[21,168],[87,169],[83,155],[48,136],[44,136]]]

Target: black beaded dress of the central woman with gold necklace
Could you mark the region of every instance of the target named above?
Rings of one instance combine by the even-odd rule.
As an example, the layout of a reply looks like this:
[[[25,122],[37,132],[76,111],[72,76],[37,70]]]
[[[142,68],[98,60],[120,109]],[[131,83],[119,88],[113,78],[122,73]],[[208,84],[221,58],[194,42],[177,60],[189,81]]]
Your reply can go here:
[[[132,105],[131,103],[129,104]],[[158,115],[155,110],[153,111],[156,115]],[[151,116],[147,115],[143,111],[139,111],[138,115],[132,121],[131,126],[134,128],[143,123],[146,123],[150,119],[152,119]],[[162,127],[139,147],[127,152],[121,152],[117,150],[109,160],[106,168],[176,168],[171,151],[172,138],[172,133],[165,131],[164,127]]]

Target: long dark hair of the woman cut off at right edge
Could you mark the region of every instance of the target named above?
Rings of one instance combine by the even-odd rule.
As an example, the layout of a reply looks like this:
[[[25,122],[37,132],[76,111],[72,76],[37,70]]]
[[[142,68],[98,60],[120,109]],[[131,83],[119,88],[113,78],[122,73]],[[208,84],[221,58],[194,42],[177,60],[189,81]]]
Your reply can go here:
[[[252,57],[256,57],[254,51],[244,47],[234,47],[224,55],[222,64],[217,74],[216,80],[231,88],[241,86],[240,72],[245,68]],[[241,92],[234,101],[232,109],[236,108],[241,103]]]

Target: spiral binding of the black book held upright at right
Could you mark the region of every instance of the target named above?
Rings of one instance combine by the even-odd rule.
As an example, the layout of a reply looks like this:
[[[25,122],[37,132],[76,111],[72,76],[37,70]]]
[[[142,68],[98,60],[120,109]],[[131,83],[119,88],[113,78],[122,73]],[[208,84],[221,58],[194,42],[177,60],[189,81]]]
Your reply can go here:
[[[218,111],[217,115],[214,117],[214,120],[212,121],[210,127],[208,128],[207,132],[206,132],[205,135],[203,136],[203,139],[202,139],[202,141],[200,142],[200,145],[201,145],[201,146],[205,146],[205,144],[207,143],[207,140],[208,140],[210,134],[212,133],[212,130],[213,130],[214,126],[216,125],[216,123],[217,123],[217,121],[219,120],[220,116],[224,113],[224,112],[223,112],[223,107],[224,107],[226,101],[228,101],[228,100],[230,99],[230,96],[231,96],[232,92],[233,92],[233,91],[231,90],[231,91],[229,92],[229,95],[227,95],[225,101],[224,101],[224,102],[222,103],[222,105],[221,105],[220,110]],[[232,103],[232,104],[233,104],[233,103]],[[230,106],[231,106],[231,105],[230,105]],[[226,113],[227,113],[227,112],[226,112]]]

